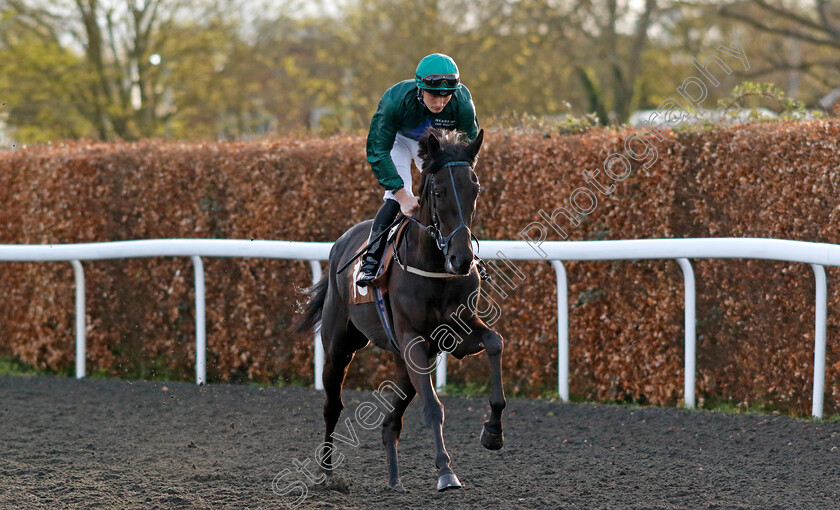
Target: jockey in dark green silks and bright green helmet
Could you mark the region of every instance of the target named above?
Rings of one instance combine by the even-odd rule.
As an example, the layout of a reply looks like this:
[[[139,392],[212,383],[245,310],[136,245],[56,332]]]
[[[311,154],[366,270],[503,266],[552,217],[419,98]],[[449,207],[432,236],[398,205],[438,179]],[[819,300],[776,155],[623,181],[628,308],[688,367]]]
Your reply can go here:
[[[457,129],[472,142],[478,136],[475,105],[467,87],[461,84],[455,61],[442,53],[426,55],[417,64],[413,80],[397,83],[379,100],[370,122],[367,160],[379,184],[385,188],[385,203],[370,229],[368,243],[388,227],[397,212],[411,216],[420,207],[411,190],[411,160],[422,171],[418,140],[431,126]],[[369,286],[376,276],[385,248],[383,235],[363,255],[356,284]]]

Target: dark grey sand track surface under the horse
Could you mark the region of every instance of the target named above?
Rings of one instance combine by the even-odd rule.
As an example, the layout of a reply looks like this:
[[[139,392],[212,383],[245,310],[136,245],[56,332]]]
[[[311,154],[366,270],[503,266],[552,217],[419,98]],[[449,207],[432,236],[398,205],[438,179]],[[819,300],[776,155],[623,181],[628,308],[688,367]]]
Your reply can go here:
[[[380,429],[357,425],[331,479],[283,495],[322,441],[313,389],[4,376],[0,508],[840,507],[840,423],[508,399],[505,447],[488,451],[486,399],[441,400],[463,489],[435,490],[415,400],[399,445],[407,493],[387,486]],[[345,390],[337,432],[363,401],[375,399]]]

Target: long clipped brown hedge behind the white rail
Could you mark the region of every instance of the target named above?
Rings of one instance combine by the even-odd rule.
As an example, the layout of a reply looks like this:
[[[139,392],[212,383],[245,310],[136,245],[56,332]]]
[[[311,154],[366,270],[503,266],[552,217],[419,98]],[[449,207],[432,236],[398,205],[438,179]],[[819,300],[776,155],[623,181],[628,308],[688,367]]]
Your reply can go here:
[[[520,239],[540,210],[569,240],[772,237],[840,243],[840,121],[772,123],[646,134],[656,160],[628,158],[630,128],[557,136],[488,133],[477,173],[475,230]],[[642,152],[638,136],[635,151]],[[631,148],[634,147],[631,145]],[[625,153],[627,172],[611,153]],[[593,179],[585,170],[600,173]],[[598,191],[592,180],[603,187]],[[589,181],[589,182],[587,182]],[[607,195],[609,185],[615,189]],[[593,193],[575,194],[588,187]],[[592,203],[595,197],[597,204]],[[364,138],[247,143],[68,142],[0,155],[0,243],[156,238],[333,241],[381,202]],[[591,209],[581,214],[581,209]],[[548,239],[560,240],[549,229]],[[536,258],[536,253],[535,253]],[[188,259],[85,262],[88,368],[130,377],[190,379],[194,363]],[[526,276],[495,327],[506,339],[508,389],[556,385],[554,273]],[[206,259],[208,376],[311,381],[312,339],[291,331],[305,261]],[[571,262],[571,391],[586,398],[672,405],[682,395],[683,283],[675,261]],[[806,264],[697,260],[697,394],[807,414],[814,349],[814,278]],[[840,272],[828,270],[826,412],[840,404]],[[69,263],[1,263],[0,355],[70,370]],[[359,353],[352,386],[393,373],[391,355]],[[450,362],[450,380],[483,383],[486,358]]]

